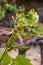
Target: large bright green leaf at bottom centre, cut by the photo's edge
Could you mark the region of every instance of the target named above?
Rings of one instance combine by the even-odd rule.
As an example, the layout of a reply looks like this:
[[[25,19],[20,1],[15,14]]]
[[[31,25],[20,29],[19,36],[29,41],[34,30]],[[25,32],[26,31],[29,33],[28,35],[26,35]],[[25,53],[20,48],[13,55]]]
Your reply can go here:
[[[13,60],[12,65],[32,65],[29,59],[26,59],[22,55],[18,55],[15,60]]]

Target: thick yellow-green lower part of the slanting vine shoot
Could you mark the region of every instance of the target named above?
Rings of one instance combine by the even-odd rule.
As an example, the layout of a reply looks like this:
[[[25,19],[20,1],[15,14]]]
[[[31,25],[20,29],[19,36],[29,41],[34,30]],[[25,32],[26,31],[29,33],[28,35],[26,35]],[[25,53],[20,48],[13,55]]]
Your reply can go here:
[[[13,32],[13,34],[11,35],[10,39],[7,42],[6,49],[5,49],[4,53],[1,56],[0,63],[1,63],[2,59],[3,59],[3,57],[5,56],[5,54],[8,52],[8,48],[10,47],[10,45],[12,45],[13,41],[15,41],[16,38],[17,38],[17,35],[15,34],[15,32]]]

